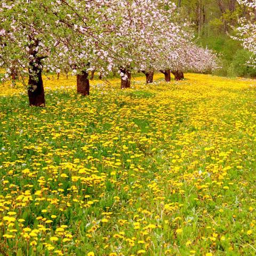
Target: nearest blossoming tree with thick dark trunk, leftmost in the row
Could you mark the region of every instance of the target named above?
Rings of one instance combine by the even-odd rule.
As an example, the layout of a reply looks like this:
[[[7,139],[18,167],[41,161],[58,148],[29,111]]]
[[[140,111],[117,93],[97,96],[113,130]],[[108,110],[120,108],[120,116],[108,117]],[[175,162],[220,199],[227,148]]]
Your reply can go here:
[[[0,66],[12,73],[12,63],[18,73],[28,76],[30,106],[44,106],[42,81],[43,60],[50,54],[54,38],[49,33],[50,1],[8,1],[0,4]],[[43,14],[44,13],[44,14]]]

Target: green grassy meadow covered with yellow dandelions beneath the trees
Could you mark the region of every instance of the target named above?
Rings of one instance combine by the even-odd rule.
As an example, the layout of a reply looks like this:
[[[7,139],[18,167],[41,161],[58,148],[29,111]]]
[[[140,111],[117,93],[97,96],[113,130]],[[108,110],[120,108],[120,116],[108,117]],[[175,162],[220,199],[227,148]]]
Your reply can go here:
[[[0,255],[255,255],[256,81],[0,85]]]

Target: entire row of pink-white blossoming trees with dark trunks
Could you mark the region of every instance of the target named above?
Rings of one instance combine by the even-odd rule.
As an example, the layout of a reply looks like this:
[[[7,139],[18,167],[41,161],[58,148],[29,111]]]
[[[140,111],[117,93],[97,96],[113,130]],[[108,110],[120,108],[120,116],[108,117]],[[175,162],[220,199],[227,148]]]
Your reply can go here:
[[[73,70],[77,92],[89,94],[89,73],[121,75],[130,87],[132,71],[147,82],[161,71],[170,82],[183,71],[217,68],[216,56],[193,43],[188,24],[178,22],[169,0],[4,0],[0,6],[0,67],[5,78],[28,77],[31,106],[45,104],[42,71]]]

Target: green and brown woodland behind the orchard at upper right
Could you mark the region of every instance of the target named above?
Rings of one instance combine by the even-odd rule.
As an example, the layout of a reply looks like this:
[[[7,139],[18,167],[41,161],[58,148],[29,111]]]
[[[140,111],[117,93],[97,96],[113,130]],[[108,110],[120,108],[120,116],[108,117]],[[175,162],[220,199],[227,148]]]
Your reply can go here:
[[[197,43],[221,54],[222,69],[216,75],[256,76],[256,70],[246,65],[250,53],[230,38],[239,18],[248,15],[246,6],[236,0],[178,0],[176,4],[181,17],[193,24]]]

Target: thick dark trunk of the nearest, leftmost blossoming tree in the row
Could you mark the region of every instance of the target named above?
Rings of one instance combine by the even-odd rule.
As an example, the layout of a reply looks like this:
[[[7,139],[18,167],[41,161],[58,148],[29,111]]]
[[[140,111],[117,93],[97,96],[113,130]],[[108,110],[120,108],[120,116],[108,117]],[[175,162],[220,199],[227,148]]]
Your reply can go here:
[[[30,106],[45,106],[41,58],[29,62],[28,99]]]

